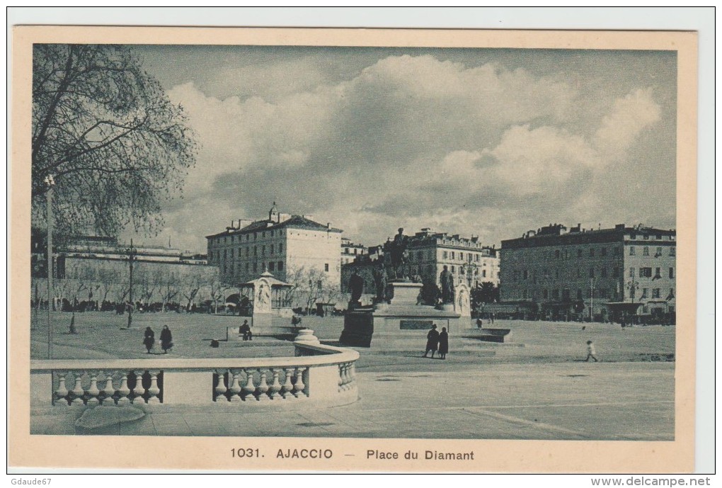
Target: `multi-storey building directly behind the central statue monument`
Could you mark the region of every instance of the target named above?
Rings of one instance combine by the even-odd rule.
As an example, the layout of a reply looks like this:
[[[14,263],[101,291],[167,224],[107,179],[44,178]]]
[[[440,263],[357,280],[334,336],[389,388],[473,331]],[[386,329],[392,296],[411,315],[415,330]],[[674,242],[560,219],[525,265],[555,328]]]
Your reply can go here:
[[[356,260],[343,266],[342,287],[352,273],[357,271],[365,279],[365,289],[373,289],[371,269],[375,265],[383,246],[369,247],[367,258]],[[484,281],[499,284],[499,256],[495,247],[482,245],[477,236],[464,238],[455,234],[431,231],[422,228],[413,236],[409,236],[406,246],[408,260],[407,274],[409,277],[418,275],[423,281],[434,281],[440,285],[439,277],[444,265],[454,277],[456,283],[466,283],[473,287]]]

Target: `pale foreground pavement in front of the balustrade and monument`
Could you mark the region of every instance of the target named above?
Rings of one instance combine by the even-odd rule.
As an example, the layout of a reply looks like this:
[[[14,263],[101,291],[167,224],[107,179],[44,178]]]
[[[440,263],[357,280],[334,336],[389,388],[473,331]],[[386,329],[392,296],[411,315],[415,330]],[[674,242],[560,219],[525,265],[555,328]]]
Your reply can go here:
[[[34,408],[33,434],[429,439],[673,440],[674,363],[492,364],[409,358],[414,371],[357,374],[360,401],[269,414],[149,409],[142,419],[75,427],[80,410]],[[459,370],[459,368],[463,370]],[[373,368],[376,369],[376,368]],[[383,369],[388,369],[384,367]],[[391,368],[399,369],[397,368]],[[409,369],[401,367],[401,369]],[[438,370],[443,369],[443,370]],[[232,406],[232,407],[235,407]]]

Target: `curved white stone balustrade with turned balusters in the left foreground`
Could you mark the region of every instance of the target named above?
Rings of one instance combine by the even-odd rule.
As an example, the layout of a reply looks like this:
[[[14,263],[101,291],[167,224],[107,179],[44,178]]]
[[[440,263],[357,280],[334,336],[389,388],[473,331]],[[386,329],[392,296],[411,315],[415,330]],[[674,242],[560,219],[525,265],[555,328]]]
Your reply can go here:
[[[358,400],[346,348],[296,342],[294,357],[30,361],[33,406],[293,405]],[[162,407],[159,407],[162,408]]]

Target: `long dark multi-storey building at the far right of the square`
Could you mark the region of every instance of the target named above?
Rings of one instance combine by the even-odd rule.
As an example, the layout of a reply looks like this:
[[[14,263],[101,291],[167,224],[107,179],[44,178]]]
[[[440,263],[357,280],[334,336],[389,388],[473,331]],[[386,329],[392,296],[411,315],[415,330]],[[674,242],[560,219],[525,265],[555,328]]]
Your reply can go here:
[[[611,318],[608,303],[638,303],[633,312],[661,320],[674,314],[676,236],[625,224],[529,231],[502,241],[501,299],[535,302],[542,316],[601,320]]]

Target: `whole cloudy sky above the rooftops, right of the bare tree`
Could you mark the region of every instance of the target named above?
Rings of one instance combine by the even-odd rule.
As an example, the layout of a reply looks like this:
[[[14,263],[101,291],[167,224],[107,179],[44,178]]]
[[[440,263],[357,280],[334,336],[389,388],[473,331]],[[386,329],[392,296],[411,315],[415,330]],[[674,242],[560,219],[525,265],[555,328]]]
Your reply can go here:
[[[500,246],[549,223],[676,228],[671,51],[136,46],[199,142],[146,244],[313,215]]]

